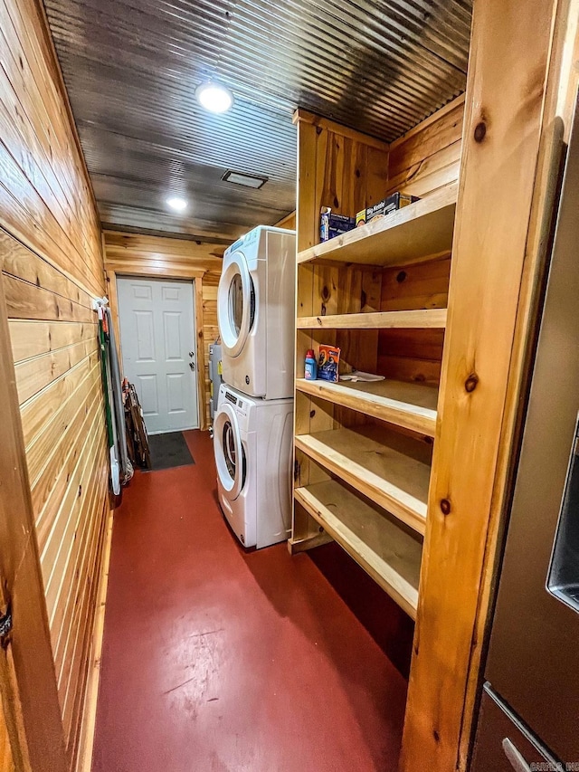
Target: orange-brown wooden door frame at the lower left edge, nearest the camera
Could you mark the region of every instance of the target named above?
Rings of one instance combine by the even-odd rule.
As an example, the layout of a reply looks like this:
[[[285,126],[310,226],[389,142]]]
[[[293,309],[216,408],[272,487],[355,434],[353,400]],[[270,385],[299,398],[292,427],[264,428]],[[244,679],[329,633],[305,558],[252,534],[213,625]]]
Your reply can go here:
[[[0,647],[0,691],[17,770],[65,772],[68,762],[0,255],[0,604],[13,629]]]

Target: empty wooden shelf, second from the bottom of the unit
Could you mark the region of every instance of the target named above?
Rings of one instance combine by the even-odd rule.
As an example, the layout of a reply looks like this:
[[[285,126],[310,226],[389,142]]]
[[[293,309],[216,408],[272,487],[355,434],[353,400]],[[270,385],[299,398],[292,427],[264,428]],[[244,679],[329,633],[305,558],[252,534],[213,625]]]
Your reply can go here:
[[[430,465],[384,443],[378,427],[299,434],[296,448],[424,534]]]

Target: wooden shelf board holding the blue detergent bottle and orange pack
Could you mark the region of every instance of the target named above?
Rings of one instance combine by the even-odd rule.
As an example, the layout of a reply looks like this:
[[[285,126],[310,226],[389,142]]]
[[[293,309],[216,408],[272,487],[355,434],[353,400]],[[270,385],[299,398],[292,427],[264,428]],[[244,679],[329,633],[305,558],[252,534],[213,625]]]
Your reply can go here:
[[[296,379],[298,391],[318,396],[334,405],[349,407],[389,424],[433,437],[436,431],[438,390],[386,378],[373,383],[307,381]]]

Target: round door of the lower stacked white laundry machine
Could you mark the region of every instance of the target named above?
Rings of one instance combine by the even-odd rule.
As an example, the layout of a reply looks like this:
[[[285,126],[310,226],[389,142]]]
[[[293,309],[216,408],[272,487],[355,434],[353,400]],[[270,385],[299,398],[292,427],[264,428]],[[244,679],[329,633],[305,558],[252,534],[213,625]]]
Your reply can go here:
[[[227,492],[227,498],[235,500],[243,490],[246,462],[237,415],[227,403],[215,416],[214,446],[219,481]]]

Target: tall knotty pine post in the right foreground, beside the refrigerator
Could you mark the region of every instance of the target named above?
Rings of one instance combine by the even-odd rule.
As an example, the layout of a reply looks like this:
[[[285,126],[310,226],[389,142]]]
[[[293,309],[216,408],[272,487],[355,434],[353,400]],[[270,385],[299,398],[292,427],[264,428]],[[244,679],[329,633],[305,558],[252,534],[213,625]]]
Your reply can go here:
[[[437,436],[403,772],[467,764],[485,556],[516,402],[513,344],[545,119],[555,0],[474,5]],[[466,741],[465,741],[466,738]]]

